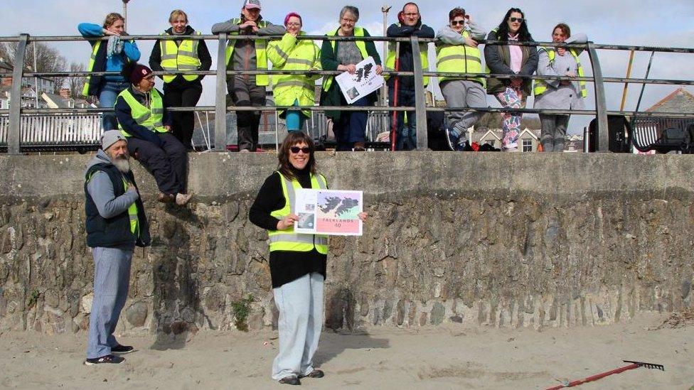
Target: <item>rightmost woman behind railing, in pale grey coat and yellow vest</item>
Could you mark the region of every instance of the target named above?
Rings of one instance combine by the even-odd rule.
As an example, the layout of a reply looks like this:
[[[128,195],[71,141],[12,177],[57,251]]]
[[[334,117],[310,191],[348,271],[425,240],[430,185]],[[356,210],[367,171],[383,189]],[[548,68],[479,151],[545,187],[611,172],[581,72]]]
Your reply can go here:
[[[571,35],[571,29],[565,23],[559,23],[552,30],[552,42],[555,43],[586,43],[585,34]],[[538,75],[584,77],[580,48],[547,47],[539,48],[540,63]],[[570,80],[535,80],[536,109],[584,109],[583,99],[588,96],[585,82]],[[564,151],[566,129],[569,125],[569,115],[540,114],[542,134],[540,143],[543,151]]]

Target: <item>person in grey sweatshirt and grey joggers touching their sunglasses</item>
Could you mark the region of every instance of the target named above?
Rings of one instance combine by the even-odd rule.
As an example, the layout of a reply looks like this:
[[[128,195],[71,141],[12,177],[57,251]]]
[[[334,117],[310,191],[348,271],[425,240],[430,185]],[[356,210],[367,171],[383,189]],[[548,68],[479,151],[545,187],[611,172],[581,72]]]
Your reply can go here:
[[[486,107],[484,78],[465,73],[482,73],[481,52],[478,41],[484,40],[486,31],[475,23],[464,9],[454,8],[448,13],[449,24],[436,35],[436,58],[439,72],[461,72],[460,76],[439,77],[439,87],[448,107]],[[467,129],[479,121],[484,112],[452,111],[448,113],[446,134],[449,148],[464,150]]]

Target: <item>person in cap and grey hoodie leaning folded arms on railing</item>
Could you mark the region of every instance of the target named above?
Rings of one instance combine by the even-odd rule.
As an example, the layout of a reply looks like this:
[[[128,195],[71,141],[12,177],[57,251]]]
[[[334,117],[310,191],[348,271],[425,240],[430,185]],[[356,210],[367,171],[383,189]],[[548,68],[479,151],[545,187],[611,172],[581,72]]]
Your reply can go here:
[[[227,70],[267,70],[267,38],[282,36],[284,26],[277,26],[260,16],[260,0],[245,0],[240,18],[215,23],[212,33],[228,33],[232,36],[259,36],[257,39],[228,40]],[[265,87],[268,75],[233,75],[227,77],[227,89],[236,106],[265,106]],[[236,114],[238,148],[242,152],[255,151],[258,146],[260,111],[239,111]]]

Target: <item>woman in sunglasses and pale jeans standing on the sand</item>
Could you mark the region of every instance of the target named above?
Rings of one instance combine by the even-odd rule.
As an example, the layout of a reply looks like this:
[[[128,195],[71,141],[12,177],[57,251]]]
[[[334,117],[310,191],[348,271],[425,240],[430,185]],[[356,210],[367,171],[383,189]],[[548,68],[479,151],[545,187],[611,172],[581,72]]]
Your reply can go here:
[[[314,367],[313,357],[323,327],[328,237],[294,232],[299,220],[294,198],[299,188],[326,189],[328,182],[316,170],[311,137],[301,131],[287,135],[277,157],[277,171],[265,179],[248,219],[267,229],[269,237],[272,292],[279,310],[279,352],[272,364],[272,379],[301,384],[303,377],[324,377]],[[365,212],[359,214],[362,221],[367,217]]]

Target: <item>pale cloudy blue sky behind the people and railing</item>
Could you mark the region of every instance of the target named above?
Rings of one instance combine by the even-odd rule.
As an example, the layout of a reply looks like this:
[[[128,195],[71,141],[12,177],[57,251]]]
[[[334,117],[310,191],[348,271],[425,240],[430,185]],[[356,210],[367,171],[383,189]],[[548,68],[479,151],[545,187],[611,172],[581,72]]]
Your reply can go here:
[[[33,36],[75,36],[77,25],[82,22],[101,24],[109,12],[123,11],[122,0],[0,0],[0,36],[16,36],[28,33]],[[261,0],[262,16],[267,21],[281,24],[284,16],[291,12],[301,14],[304,31],[311,35],[322,35],[336,28],[338,14],[342,6],[353,5],[360,10],[358,25],[365,27],[372,36],[383,35],[383,13],[381,6],[393,6],[388,13],[388,24],[395,23],[397,11],[405,1],[351,0],[349,2],[293,0],[290,3],[279,0]],[[203,33],[210,33],[214,23],[237,17],[242,0],[130,0],[128,4],[128,28],[133,35],[154,35],[169,28],[169,13],[173,9],[183,9],[188,13],[191,26]],[[291,4],[291,6],[287,6]],[[422,22],[438,31],[447,23],[448,11],[462,6],[486,31],[498,26],[511,7],[518,7],[525,13],[528,28],[538,41],[550,40],[552,27],[559,22],[569,24],[572,32],[585,33],[595,43],[616,45],[651,45],[694,47],[694,1],[625,1],[625,0],[584,0],[584,1],[538,1],[522,2],[489,1],[467,4],[460,0],[420,1]],[[432,6],[435,4],[435,6]],[[141,62],[147,63],[154,41],[140,41]],[[68,63],[87,64],[90,54],[85,42],[51,43],[68,59]],[[380,43],[377,47],[380,50]],[[216,64],[216,43],[208,41],[213,56],[213,69]],[[429,63],[435,64],[434,50],[429,50]],[[626,77],[629,52],[599,50],[599,61],[605,77]],[[650,53],[637,52],[634,58],[631,77],[643,78]],[[582,63],[587,75],[592,75],[587,54],[582,55]],[[650,78],[694,80],[694,55],[679,53],[656,53],[651,66]],[[161,82],[161,81],[160,81]],[[432,83],[434,84],[434,83]],[[161,87],[161,85],[158,85]],[[214,77],[203,80],[203,97],[200,105],[214,104]],[[438,89],[430,86],[435,94]],[[608,109],[619,109],[623,84],[607,85]],[[646,86],[641,109],[651,107],[674,86]],[[589,97],[586,107],[594,107],[592,85],[588,85]],[[688,87],[694,93],[694,87]],[[641,85],[631,85],[625,109],[635,109],[641,92]],[[491,107],[498,107],[496,99],[487,99]],[[533,107],[533,99],[528,100]],[[570,122],[570,132],[581,133],[590,117],[574,115]]]

